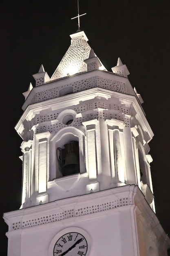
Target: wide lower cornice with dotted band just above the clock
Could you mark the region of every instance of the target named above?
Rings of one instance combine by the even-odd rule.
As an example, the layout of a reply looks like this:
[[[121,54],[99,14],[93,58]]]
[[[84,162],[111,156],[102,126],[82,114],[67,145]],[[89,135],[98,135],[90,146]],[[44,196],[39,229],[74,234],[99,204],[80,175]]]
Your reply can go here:
[[[157,216],[146,202],[143,193],[135,185],[120,186],[12,211],[4,213],[3,218],[7,225],[9,225],[8,236],[8,234],[14,234],[15,231],[18,232],[18,229],[23,231],[42,229],[48,225],[57,225],[57,223],[60,223],[60,220],[62,222],[75,222],[96,218],[101,214],[107,216],[119,211],[126,211],[130,209],[129,207],[133,207],[136,214],[141,216],[144,224],[147,223],[150,232],[154,231],[159,243],[166,243],[167,247],[170,247],[170,238],[163,231]]]

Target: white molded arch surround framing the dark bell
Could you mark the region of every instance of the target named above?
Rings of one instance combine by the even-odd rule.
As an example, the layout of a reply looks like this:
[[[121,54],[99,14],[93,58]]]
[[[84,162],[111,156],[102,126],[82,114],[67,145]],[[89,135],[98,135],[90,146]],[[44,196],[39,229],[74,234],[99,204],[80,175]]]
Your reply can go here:
[[[84,138],[84,132],[73,126],[64,127],[53,136],[50,141],[50,180],[63,176],[61,166],[57,160],[57,148],[64,148],[64,145],[71,141],[77,141],[79,144],[80,173],[86,172]]]

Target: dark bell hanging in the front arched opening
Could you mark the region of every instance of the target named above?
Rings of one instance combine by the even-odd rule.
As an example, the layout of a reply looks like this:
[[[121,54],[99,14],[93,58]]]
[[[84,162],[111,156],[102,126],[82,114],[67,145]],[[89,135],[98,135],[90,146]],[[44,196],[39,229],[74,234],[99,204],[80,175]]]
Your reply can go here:
[[[61,172],[63,176],[79,173],[79,146],[77,141],[71,141],[64,145],[64,149],[58,148],[60,156]]]

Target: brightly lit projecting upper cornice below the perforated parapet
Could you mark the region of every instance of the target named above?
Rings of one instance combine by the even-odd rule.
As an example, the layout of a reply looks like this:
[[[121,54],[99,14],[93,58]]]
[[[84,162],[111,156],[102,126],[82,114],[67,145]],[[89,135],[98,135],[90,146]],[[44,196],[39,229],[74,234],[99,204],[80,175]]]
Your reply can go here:
[[[38,87],[39,88],[39,87]],[[135,95],[130,95],[130,94],[124,94],[121,92],[115,92],[111,91],[108,89],[104,88],[91,88],[88,90],[85,90],[83,92],[76,92],[73,94],[68,94],[64,95],[62,97],[54,98],[54,99],[49,99],[43,102],[39,103],[34,103],[29,105],[24,113],[22,114],[20,120],[15,126],[15,130],[21,134],[21,130],[23,128],[23,121],[27,119],[29,116],[32,117],[33,115],[39,114],[40,111],[46,110],[51,108],[51,110],[55,109],[62,109],[62,108],[70,108],[72,105],[77,105],[79,104],[80,101],[86,101],[86,100],[91,100],[94,99],[95,97],[102,97],[105,99],[109,99],[111,97],[116,97],[119,98],[121,102],[126,102],[128,104],[132,104],[136,111],[136,118],[141,123],[141,126],[143,127],[144,130],[146,130],[149,134],[150,139],[147,141],[149,142],[152,137],[154,136],[148,121],[145,117],[144,111],[139,105],[139,102]]]

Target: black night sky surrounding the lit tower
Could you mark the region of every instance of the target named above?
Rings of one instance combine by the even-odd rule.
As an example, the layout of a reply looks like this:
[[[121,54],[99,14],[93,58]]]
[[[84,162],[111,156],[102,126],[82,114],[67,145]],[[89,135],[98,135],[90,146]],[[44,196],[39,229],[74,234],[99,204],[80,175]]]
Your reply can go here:
[[[80,28],[108,71],[127,65],[155,134],[150,141],[157,217],[170,236],[170,1],[79,0]],[[7,256],[4,212],[21,204],[22,139],[14,129],[32,74],[51,76],[77,30],[77,0],[2,0],[0,4],[1,255]]]

